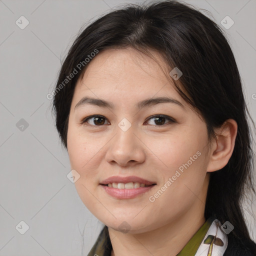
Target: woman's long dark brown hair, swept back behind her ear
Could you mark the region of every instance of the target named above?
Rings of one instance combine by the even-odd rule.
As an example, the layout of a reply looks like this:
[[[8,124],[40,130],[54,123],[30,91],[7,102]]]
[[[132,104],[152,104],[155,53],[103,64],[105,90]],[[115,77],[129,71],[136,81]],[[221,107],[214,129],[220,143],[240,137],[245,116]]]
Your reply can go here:
[[[229,236],[250,240],[242,213],[242,195],[252,184],[252,136],[241,80],[232,50],[221,28],[190,4],[166,0],[150,5],[130,4],[104,14],[75,39],[61,66],[57,86],[95,49],[133,47],[161,54],[171,70],[182,76],[175,83],[180,95],[204,119],[208,135],[232,118],[238,124],[233,153],[222,169],[210,173],[205,218],[214,216],[234,225]],[[87,64],[89,65],[89,63]],[[56,128],[66,147],[67,123],[74,87],[86,66],[56,91],[53,110]],[[77,68],[76,68],[77,69]],[[253,121],[252,121],[253,123]]]

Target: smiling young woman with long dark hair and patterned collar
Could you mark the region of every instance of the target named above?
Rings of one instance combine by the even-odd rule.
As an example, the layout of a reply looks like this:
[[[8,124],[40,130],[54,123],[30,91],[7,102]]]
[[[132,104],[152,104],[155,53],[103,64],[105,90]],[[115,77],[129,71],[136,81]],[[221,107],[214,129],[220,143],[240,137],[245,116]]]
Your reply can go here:
[[[54,92],[90,255],[256,255],[251,136],[233,53],[188,4],[129,5],[76,38]]]

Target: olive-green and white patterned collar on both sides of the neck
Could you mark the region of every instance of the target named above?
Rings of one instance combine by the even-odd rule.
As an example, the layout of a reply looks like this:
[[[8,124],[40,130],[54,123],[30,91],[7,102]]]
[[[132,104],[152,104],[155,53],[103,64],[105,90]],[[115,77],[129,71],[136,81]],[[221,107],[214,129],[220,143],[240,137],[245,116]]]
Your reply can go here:
[[[223,256],[227,235],[218,219],[209,217],[176,256]],[[87,256],[110,256],[111,242],[105,225]]]

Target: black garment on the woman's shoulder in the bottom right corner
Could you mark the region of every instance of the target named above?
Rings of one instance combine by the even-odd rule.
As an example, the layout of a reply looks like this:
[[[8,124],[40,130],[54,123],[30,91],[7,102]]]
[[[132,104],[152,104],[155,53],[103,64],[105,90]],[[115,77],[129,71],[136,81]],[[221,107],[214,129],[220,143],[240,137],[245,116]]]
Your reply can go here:
[[[256,243],[250,239],[238,239],[228,235],[228,244],[223,256],[256,256]]]

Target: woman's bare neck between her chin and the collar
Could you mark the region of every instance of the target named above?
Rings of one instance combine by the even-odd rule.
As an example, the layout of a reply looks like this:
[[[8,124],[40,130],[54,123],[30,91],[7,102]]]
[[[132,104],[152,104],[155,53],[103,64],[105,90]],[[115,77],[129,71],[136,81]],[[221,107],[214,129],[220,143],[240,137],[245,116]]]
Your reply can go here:
[[[111,256],[175,256],[205,222],[204,205],[198,215],[198,205],[157,229],[144,233],[122,233],[108,227],[112,244]]]

